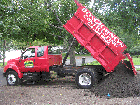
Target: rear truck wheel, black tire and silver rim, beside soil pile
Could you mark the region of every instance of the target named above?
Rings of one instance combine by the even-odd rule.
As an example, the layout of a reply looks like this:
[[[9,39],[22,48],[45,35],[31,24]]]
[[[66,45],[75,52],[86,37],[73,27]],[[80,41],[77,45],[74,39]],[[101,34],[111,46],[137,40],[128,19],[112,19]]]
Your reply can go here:
[[[76,74],[75,82],[79,88],[90,89],[94,84],[94,75],[91,71],[83,70]]]

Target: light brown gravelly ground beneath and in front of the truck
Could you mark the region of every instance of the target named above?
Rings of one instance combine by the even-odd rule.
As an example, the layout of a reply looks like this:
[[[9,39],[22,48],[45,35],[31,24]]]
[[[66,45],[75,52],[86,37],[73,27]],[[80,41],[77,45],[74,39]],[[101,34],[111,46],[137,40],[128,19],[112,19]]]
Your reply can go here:
[[[140,72],[138,72],[140,80]],[[111,98],[78,89],[74,77],[34,85],[1,86],[0,105],[140,105],[140,96]]]

